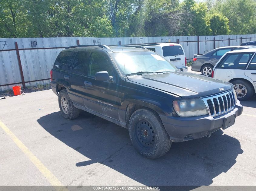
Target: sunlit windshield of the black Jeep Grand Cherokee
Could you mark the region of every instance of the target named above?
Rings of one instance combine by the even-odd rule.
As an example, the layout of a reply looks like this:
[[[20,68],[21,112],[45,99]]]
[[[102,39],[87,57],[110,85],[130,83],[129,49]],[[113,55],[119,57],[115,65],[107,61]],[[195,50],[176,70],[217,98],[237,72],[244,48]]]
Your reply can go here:
[[[111,53],[122,75],[147,71],[170,72],[178,70],[170,62],[153,52]]]

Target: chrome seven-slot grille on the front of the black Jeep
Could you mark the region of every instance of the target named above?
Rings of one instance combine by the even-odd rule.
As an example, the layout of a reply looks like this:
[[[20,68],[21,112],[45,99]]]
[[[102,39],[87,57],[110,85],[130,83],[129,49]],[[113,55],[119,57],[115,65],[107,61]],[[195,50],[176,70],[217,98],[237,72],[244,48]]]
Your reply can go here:
[[[230,111],[236,104],[233,90],[211,97],[203,97],[202,100],[210,116],[218,116]]]

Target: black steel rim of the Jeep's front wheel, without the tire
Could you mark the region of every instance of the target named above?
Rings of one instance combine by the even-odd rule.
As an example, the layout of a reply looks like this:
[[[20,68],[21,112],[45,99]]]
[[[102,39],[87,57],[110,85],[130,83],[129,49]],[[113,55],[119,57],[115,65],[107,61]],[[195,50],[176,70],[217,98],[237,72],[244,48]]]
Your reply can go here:
[[[139,145],[151,149],[155,144],[155,131],[146,120],[139,120],[135,125],[135,137]]]

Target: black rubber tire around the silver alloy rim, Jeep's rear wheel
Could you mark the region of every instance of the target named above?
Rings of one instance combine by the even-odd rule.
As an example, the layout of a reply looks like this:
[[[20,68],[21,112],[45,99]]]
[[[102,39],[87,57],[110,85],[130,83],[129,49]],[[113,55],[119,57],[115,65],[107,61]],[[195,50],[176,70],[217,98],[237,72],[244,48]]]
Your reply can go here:
[[[61,102],[62,102],[63,97],[66,99],[67,104],[68,104],[68,112],[66,112],[66,113],[64,111],[65,109],[62,109]],[[70,120],[70,119],[75,119],[79,116],[80,110],[73,105],[73,102],[69,98],[68,92],[66,90],[60,91],[58,101],[59,101],[59,107],[60,107],[61,114],[64,118]]]

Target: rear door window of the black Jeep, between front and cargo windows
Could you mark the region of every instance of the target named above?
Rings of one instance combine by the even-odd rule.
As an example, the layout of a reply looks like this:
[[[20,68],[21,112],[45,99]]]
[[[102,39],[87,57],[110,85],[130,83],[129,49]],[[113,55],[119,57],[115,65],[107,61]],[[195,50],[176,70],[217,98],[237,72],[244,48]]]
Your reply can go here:
[[[84,75],[84,67],[86,65],[87,54],[88,52],[85,51],[77,52],[72,66],[73,73]]]

